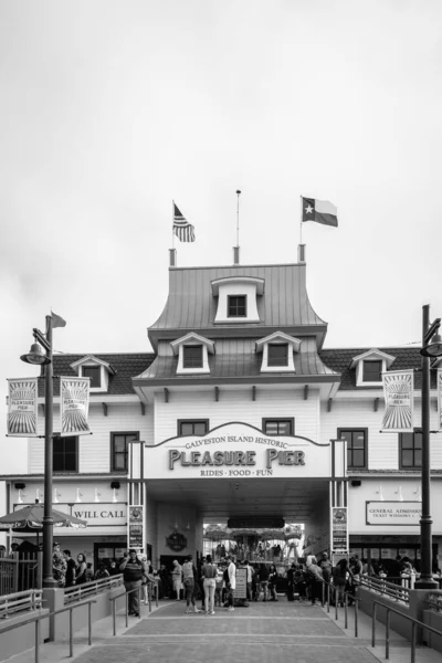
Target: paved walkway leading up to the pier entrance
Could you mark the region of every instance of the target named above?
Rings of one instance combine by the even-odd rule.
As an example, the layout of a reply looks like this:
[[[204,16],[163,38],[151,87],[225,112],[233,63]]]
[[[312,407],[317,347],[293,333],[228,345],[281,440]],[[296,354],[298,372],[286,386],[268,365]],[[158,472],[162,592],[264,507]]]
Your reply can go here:
[[[349,629],[344,630],[344,611],[335,622],[334,611],[308,603],[251,603],[234,612],[218,608],[214,615],[186,614],[180,602],[160,602],[150,615],[129,618],[124,628],[123,614],[117,620],[118,635],[112,635],[112,620],[94,624],[92,648],[86,633],[75,635],[76,663],[377,663],[385,661],[383,630],[379,625],[379,646],[371,649],[370,619],[359,613],[359,638],[354,638],[352,609]],[[403,639],[391,633],[391,663],[408,663],[410,650]],[[69,660],[69,643],[50,643],[41,649],[40,661],[59,663]],[[31,663],[33,652],[12,659],[12,663]],[[427,648],[417,651],[417,663],[441,663],[442,654]]]

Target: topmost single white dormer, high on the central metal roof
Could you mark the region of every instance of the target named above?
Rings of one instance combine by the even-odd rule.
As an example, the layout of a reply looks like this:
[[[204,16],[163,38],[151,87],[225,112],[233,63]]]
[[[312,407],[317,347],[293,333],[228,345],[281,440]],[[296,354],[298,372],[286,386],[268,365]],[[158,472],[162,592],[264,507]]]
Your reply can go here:
[[[218,297],[214,324],[259,323],[257,297],[264,294],[264,278],[227,276],[211,282]]]

